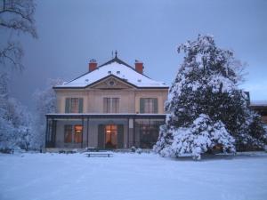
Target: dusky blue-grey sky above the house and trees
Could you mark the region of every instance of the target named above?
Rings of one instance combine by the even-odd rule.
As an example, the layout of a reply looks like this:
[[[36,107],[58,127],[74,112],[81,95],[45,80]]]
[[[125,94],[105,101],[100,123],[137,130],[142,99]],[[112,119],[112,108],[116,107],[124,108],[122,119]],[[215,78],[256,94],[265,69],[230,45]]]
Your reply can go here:
[[[38,39],[20,35],[24,70],[13,72],[11,92],[29,108],[32,94],[49,79],[69,81],[99,64],[118,58],[171,84],[182,63],[177,46],[198,34],[235,52],[247,63],[240,87],[251,100],[267,100],[267,1],[264,0],[45,0],[36,1]]]

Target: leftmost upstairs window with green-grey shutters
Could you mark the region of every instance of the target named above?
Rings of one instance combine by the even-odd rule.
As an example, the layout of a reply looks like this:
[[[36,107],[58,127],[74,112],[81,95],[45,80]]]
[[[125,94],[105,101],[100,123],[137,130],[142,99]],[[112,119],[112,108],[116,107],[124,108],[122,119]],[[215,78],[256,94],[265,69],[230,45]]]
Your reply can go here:
[[[83,98],[66,98],[65,113],[82,113],[84,107]]]

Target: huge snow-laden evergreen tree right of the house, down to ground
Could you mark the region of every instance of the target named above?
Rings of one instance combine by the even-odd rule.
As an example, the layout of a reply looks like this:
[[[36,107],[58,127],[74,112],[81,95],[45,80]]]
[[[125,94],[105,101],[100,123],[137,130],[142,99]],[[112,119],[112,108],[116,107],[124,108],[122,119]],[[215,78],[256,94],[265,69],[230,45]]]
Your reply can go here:
[[[239,90],[242,65],[218,48],[213,36],[198,36],[178,47],[185,57],[166,100],[166,124],[154,149],[162,156],[263,148],[260,118]]]

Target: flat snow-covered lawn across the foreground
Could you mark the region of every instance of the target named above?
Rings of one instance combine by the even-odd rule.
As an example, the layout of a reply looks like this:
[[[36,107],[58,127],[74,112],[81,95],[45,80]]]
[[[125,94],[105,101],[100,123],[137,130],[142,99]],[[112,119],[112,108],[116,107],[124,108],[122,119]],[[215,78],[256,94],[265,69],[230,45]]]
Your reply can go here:
[[[130,153],[0,154],[0,199],[267,199],[267,154],[200,162]]]

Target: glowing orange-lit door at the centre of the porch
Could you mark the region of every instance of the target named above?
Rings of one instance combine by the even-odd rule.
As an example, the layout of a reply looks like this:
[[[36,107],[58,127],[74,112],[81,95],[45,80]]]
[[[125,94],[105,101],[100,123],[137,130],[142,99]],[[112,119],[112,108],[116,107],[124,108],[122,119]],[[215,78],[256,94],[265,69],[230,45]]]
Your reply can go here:
[[[105,126],[105,148],[117,148],[117,125]]]

